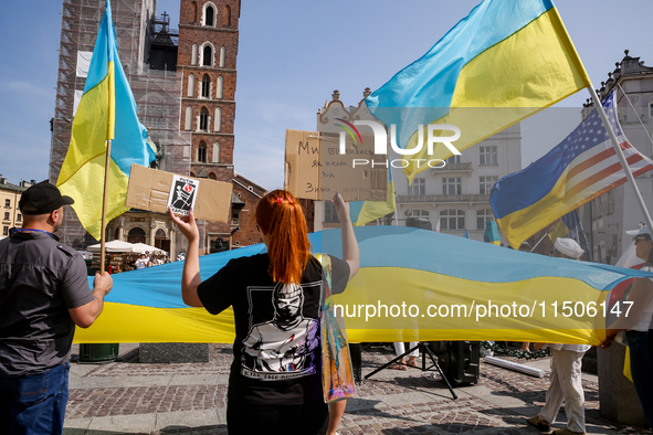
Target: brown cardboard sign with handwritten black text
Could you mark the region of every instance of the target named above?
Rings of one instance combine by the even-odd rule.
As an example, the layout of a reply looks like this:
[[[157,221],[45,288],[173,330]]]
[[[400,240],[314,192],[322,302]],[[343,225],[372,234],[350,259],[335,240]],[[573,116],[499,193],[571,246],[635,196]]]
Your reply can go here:
[[[340,153],[341,140],[345,153]],[[286,130],[285,189],[297,198],[387,201],[388,159],[373,153],[373,137]]]

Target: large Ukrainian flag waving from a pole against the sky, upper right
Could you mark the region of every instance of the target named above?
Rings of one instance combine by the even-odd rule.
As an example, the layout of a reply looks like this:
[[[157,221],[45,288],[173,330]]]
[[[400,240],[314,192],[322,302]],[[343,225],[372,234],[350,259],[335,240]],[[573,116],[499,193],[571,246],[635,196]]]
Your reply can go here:
[[[589,85],[551,1],[484,0],[366,103],[388,127],[397,126],[400,148],[423,141],[406,158],[412,183],[429,160],[452,155],[442,144],[428,152],[429,124],[457,127],[452,146],[462,150]],[[436,128],[431,136],[455,131]]]

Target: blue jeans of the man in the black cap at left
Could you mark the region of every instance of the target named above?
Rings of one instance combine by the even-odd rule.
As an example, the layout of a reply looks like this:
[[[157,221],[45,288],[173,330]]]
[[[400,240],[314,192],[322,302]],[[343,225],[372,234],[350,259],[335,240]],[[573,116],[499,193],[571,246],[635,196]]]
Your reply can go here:
[[[39,373],[0,378],[0,435],[61,434],[70,370],[66,362]]]

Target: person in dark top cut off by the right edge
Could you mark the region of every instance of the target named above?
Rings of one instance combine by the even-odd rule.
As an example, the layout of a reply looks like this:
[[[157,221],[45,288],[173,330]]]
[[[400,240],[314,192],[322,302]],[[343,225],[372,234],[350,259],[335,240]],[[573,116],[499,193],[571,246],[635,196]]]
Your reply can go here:
[[[640,230],[626,231],[626,234],[634,235],[636,255],[646,262],[640,270],[653,272],[653,237],[649,227],[644,225]],[[628,315],[620,316],[605,330],[607,339],[601,347],[610,347],[614,336],[625,331],[633,384],[642,403],[644,416],[649,425],[653,427],[653,352],[650,343],[651,318],[653,317],[653,278],[635,278],[628,295],[628,301],[632,303]],[[625,308],[625,305],[622,307]]]

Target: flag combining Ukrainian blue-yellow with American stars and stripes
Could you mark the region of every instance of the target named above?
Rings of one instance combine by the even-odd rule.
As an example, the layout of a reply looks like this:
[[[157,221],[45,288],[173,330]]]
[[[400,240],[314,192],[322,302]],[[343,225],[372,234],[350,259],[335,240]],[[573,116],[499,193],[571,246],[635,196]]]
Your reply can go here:
[[[617,92],[603,102],[625,160],[634,177],[653,169],[653,160],[629,141],[617,116]],[[496,182],[489,203],[504,236],[517,248],[551,222],[626,182],[598,110],[558,146],[528,168]]]

